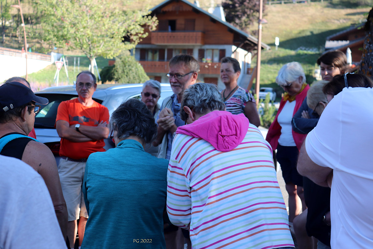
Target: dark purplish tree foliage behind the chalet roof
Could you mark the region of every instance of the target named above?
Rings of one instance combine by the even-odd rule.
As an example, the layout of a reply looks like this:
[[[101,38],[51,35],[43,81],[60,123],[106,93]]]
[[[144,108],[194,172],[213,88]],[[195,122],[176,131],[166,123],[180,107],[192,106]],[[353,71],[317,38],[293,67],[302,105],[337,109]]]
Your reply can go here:
[[[263,0],[263,13],[265,9]],[[222,7],[225,20],[233,26],[247,31],[248,27],[259,18],[260,0],[223,0]]]

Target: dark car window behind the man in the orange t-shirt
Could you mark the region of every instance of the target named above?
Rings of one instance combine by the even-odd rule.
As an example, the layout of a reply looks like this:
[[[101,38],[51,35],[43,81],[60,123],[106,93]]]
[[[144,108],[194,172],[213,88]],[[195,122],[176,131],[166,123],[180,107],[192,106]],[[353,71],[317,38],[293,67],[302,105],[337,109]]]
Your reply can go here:
[[[54,128],[56,122],[57,109],[62,101],[75,99],[77,96],[72,94],[37,94],[38,96],[47,98],[49,103],[41,105],[41,110],[35,116],[35,128]],[[102,100],[94,99],[98,103]]]

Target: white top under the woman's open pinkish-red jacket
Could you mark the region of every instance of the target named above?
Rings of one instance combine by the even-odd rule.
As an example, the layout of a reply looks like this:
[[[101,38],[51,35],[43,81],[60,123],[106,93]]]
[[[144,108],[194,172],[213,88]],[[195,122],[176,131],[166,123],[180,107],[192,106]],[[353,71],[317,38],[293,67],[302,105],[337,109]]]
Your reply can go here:
[[[279,125],[281,126],[281,135],[278,142],[282,146],[297,146],[293,138],[291,127],[291,119],[293,118],[294,108],[295,100],[292,102],[286,101],[281,112],[277,116],[277,122],[279,122]]]

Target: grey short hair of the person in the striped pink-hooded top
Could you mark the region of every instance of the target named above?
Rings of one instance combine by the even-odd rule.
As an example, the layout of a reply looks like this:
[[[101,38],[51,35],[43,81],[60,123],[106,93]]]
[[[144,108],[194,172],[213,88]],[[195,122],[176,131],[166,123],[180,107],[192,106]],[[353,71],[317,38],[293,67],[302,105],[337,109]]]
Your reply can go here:
[[[184,111],[184,106],[198,114],[206,114],[209,111],[225,110],[222,95],[217,90],[217,86],[211,83],[195,83],[187,88],[181,100],[180,117],[182,120],[188,118]]]

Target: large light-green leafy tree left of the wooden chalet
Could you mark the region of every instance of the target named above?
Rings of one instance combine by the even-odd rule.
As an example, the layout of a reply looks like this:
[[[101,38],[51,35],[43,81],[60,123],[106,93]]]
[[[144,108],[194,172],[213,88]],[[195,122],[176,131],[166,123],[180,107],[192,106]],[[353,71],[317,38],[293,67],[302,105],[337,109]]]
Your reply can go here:
[[[113,58],[147,37],[158,21],[129,0],[35,0],[41,10],[41,36],[55,47],[81,50],[94,69],[98,56]]]

